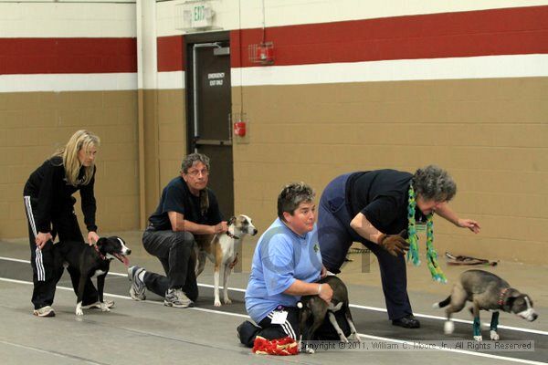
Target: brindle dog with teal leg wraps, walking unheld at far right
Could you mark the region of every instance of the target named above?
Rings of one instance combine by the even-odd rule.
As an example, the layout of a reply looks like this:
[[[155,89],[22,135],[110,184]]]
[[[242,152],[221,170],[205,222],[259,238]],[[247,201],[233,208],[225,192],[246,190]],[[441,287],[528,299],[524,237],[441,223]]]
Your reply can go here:
[[[474,339],[482,340],[479,323],[479,310],[493,312],[490,323],[490,339],[500,339],[497,333],[499,324],[499,311],[514,313],[518,317],[532,322],[538,315],[532,308],[532,300],[526,294],[508,284],[501,277],[483,270],[468,270],[460,275],[458,282],[453,287],[451,294],[445,300],[434,303],[434,308],[446,308],[448,320],[445,323],[446,334],[453,333],[455,328],[451,315],[460,311],[466,302],[472,302],[470,312],[474,317]]]

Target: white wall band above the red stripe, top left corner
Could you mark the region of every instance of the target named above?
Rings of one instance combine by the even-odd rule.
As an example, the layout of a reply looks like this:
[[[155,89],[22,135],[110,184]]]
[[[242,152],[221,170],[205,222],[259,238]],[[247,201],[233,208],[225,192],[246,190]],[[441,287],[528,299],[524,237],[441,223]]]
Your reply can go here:
[[[0,2],[3,38],[135,36],[135,4]]]

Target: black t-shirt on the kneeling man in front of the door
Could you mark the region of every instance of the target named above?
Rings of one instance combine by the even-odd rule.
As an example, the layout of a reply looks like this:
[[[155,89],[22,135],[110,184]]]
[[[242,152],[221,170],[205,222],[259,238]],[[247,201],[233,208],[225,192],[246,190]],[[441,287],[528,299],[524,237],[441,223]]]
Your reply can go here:
[[[200,198],[190,193],[183,178],[178,176],[169,182],[162,192],[162,198],[156,211],[149,218],[157,230],[171,230],[168,212],[176,212],[184,215],[184,219],[195,224],[218,224],[223,220],[215,194],[207,189],[209,207],[205,214],[200,209]]]

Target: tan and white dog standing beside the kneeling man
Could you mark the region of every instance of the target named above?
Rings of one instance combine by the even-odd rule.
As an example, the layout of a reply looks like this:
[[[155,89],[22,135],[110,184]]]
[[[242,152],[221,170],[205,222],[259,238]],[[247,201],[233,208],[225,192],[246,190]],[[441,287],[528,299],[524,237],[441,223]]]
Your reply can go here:
[[[221,306],[219,298],[219,272],[223,266],[223,299],[225,304],[232,301],[228,297],[228,276],[232,267],[237,263],[237,251],[245,235],[257,235],[257,228],[253,225],[248,215],[239,214],[230,218],[227,222],[228,232],[214,236],[203,236],[196,239],[197,244],[197,263],[195,268],[196,277],[204,271],[206,257],[215,264],[214,282],[215,299],[214,305]]]

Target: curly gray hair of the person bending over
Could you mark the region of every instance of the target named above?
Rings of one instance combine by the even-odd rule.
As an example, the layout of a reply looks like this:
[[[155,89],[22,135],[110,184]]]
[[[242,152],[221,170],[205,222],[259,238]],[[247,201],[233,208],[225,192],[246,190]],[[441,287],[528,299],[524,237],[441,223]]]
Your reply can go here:
[[[418,169],[413,176],[413,186],[417,195],[425,200],[448,202],[457,193],[457,184],[447,171],[436,165]]]

